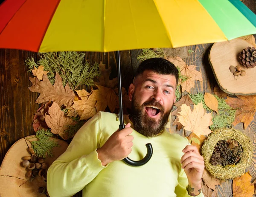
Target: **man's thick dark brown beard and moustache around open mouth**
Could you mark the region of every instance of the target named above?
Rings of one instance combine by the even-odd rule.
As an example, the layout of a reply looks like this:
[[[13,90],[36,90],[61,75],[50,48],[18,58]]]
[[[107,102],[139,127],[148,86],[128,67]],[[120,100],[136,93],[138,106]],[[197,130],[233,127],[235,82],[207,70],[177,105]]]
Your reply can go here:
[[[149,105],[160,109],[160,113],[164,112],[163,106],[157,101],[148,101],[141,106],[137,103],[135,96],[133,96],[131,101],[131,120],[134,124],[134,129],[148,138],[157,136],[164,129],[172,110],[169,110],[158,121],[155,121],[153,118],[145,115],[145,106]]]

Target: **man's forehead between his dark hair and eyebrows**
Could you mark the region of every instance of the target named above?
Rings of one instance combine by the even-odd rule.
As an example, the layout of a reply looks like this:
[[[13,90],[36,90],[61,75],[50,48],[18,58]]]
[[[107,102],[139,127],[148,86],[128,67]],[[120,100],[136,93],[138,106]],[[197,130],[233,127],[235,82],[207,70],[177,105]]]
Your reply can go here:
[[[148,81],[148,79],[152,79],[156,82],[162,83],[171,83],[176,84],[176,78],[174,75],[161,75],[159,73],[155,73],[152,70],[145,70],[142,74],[138,75],[135,82],[143,83]]]

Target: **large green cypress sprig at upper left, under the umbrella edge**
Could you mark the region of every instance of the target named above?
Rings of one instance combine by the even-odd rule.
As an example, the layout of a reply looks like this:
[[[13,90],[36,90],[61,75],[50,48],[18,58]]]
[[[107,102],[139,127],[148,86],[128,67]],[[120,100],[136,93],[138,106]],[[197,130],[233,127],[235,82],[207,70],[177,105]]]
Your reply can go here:
[[[92,86],[93,78],[100,76],[99,65],[95,62],[90,65],[85,60],[85,53],[75,51],[61,51],[40,53],[41,59],[35,63],[33,58],[26,60],[28,70],[38,68],[39,65],[44,66],[44,70],[48,71],[49,81],[54,84],[55,74],[59,73],[62,78],[63,85],[69,83],[73,90],[81,84]]]

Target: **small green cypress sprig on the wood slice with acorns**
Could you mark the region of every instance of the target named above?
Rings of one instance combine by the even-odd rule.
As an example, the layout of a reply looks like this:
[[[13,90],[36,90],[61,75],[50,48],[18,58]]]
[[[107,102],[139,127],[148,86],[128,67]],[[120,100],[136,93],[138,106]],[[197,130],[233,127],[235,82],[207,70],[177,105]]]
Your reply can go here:
[[[50,139],[53,137],[52,132],[49,129],[46,131],[40,129],[36,132],[35,137],[38,138],[38,141],[29,141],[29,138],[27,139],[31,143],[35,155],[42,158],[53,157],[52,149],[59,145],[56,141]]]

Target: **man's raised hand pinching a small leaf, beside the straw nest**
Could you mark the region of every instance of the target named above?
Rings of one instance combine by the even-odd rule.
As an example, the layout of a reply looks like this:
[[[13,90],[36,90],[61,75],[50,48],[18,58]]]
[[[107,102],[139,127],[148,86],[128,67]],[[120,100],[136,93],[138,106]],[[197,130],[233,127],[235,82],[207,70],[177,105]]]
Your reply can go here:
[[[201,189],[201,179],[204,172],[204,158],[198,152],[195,146],[188,145],[182,152],[184,155],[180,159],[182,168],[184,169],[188,180],[189,186],[195,188],[195,191]]]

